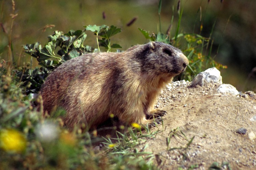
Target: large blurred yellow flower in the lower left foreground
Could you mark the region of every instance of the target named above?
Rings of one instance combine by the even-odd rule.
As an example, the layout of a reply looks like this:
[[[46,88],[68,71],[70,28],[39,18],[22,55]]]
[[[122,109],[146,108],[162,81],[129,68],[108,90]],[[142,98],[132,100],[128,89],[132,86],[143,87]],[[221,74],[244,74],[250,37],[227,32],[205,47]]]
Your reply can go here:
[[[6,152],[23,152],[26,149],[26,142],[25,136],[16,130],[0,130],[0,148]]]

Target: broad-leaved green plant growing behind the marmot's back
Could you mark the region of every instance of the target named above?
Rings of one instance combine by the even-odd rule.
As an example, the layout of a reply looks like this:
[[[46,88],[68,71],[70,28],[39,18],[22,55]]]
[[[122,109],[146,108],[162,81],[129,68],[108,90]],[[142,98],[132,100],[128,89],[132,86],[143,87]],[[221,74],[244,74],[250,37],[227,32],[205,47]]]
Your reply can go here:
[[[23,48],[26,53],[31,55],[31,63],[27,67],[20,69],[17,75],[24,82],[23,86],[27,87],[26,91],[28,93],[37,93],[47,75],[63,62],[86,53],[94,52],[94,48],[84,45],[87,37],[85,31],[95,33],[99,51],[99,46],[105,47],[107,52],[110,52],[111,48],[122,48],[118,44],[111,45],[110,41],[113,35],[121,32],[121,29],[105,25],[89,25],[85,26],[85,30],[70,30],[66,34],[61,31],[54,31],[52,35],[48,36],[48,43],[44,47],[39,42],[26,44]],[[102,39],[99,39],[98,36],[102,37]],[[55,51],[57,51],[58,55],[55,54]],[[37,58],[39,65],[43,67],[32,69],[33,57]]]

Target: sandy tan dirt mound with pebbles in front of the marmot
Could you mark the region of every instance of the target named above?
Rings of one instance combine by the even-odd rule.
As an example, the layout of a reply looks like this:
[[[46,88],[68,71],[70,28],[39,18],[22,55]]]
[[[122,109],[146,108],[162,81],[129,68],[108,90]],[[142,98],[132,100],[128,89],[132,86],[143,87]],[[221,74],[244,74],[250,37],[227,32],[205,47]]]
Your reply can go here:
[[[256,169],[253,92],[236,97],[218,93],[220,84],[190,87],[189,82],[180,81],[169,85],[156,105],[168,115],[163,125],[152,129],[159,132],[147,141],[145,150],[153,152],[159,168],[208,169],[216,162],[215,168]],[[240,128],[246,133],[238,133]]]

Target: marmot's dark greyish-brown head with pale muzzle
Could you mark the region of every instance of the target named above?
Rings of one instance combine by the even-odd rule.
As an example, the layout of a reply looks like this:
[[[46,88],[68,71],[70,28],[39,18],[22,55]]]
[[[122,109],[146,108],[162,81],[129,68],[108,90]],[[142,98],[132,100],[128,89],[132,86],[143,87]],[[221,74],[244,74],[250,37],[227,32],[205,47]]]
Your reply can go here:
[[[188,65],[188,59],[180,49],[161,42],[152,41],[143,45],[136,57],[140,60],[142,71],[157,74],[178,75]]]

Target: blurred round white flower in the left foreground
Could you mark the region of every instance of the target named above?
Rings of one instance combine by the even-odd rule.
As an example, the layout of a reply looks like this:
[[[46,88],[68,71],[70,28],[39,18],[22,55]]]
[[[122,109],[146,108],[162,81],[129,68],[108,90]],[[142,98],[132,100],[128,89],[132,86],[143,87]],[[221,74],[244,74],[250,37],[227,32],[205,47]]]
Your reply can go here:
[[[39,124],[36,129],[36,134],[39,140],[43,142],[51,142],[59,137],[59,127],[49,121],[45,121],[43,124]]]

